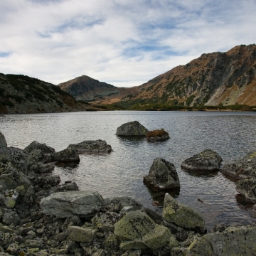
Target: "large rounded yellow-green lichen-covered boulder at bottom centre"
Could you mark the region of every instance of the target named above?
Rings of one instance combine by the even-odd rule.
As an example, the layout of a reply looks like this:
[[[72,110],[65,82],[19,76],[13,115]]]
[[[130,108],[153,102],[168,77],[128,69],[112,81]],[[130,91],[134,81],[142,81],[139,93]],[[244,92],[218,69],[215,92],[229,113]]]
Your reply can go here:
[[[120,248],[155,250],[168,244],[171,232],[154,223],[146,213],[131,211],[114,224],[114,235],[121,240]]]

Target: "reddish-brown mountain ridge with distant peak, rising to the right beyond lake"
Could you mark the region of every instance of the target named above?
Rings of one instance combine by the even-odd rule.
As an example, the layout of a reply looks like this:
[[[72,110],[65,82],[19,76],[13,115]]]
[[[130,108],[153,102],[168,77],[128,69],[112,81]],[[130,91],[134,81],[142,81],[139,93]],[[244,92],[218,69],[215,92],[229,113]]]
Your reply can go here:
[[[119,88],[82,76],[60,87],[74,97],[115,103],[124,109],[143,105],[256,105],[256,46],[235,46],[225,53],[204,53],[143,85]],[[71,89],[72,88],[72,89]]]

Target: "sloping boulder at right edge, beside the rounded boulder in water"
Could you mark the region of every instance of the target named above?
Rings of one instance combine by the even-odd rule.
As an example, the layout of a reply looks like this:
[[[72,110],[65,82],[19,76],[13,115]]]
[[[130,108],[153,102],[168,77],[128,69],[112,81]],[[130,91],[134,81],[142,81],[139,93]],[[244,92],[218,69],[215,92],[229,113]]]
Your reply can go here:
[[[250,152],[241,159],[224,164],[220,171],[237,179],[256,176],[256,151]]]

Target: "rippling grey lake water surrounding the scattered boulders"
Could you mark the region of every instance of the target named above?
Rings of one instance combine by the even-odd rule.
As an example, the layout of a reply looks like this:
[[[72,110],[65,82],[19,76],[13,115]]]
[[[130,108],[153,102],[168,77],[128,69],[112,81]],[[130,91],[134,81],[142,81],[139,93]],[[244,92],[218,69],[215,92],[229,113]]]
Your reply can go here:
[[[145,139],[115,136],[117,127],[138,120],[148,129],[164,128],[171,139],[149,143]],[[248,224],[256,219],[237,196],[235,183],[223,174],[198,176],[181,170],[184,159],[203,149],[213,149],[223,163],[256,150],[254,112],[73,112],[13,114],[0,117],[0,131],[9,146],[23,149],[36,140],[56,151],[84,140],[104,139],[114,150],[107,155],[80,155],[77,166],[55,167],[62,181],[78,183],[80,190],[97,190],[102,196],[131,196],[145,206],[163,200],[163,193],[149,191],[143,176],[156,157],[176,166],[181,190],[176,200],[198,210],[208,228],[216,222]],[[198,198],[203,201],[201,203]],[[161,208],[157,208],[161,211]]]

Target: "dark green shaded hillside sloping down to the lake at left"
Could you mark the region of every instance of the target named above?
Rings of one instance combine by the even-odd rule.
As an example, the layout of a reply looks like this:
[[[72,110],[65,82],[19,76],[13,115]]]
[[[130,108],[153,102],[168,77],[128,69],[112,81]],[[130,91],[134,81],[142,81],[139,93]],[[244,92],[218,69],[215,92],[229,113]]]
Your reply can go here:
[[[73,112],[92,109],[60,87],[26,75],[0,73],[0,114]]]

